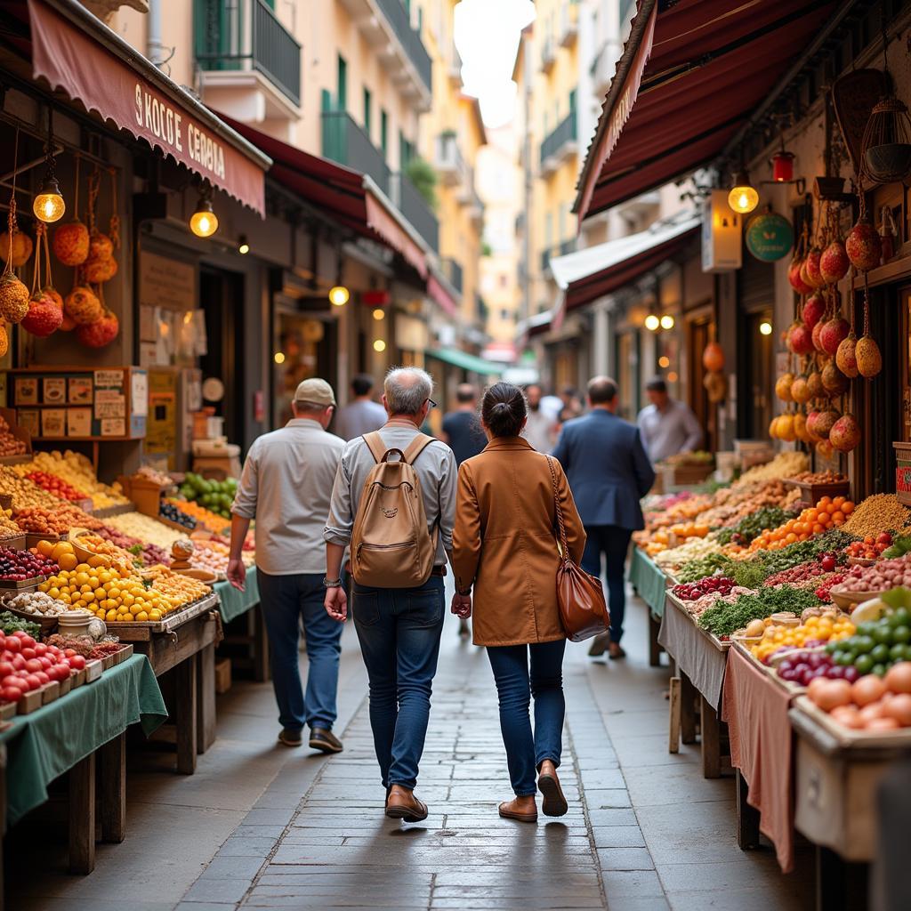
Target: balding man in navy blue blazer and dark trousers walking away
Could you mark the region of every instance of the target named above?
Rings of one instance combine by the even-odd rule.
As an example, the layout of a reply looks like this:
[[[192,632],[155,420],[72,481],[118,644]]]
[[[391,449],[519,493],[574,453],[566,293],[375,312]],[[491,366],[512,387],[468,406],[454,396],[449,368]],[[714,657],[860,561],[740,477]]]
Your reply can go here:
[[[626,592],[623,578],[633,531],[644,528],[640,499],[655,483],[639,429],[618,417],[617,384],[607,376],[589,381],[590,411],[563,425],[553,455],[563,466],[588,535],[582,568],[601,575],[606,558],[610,632],[598,636],[589,655],[624,658],[620,648]]]

